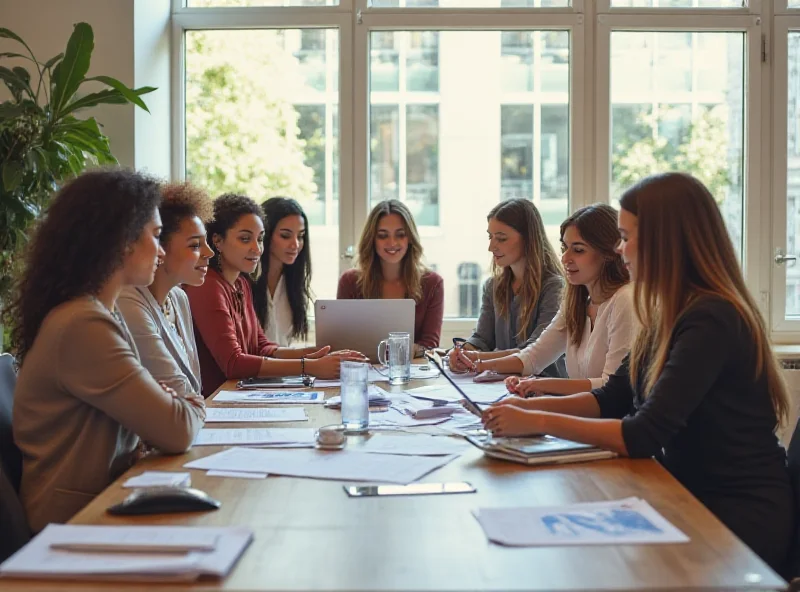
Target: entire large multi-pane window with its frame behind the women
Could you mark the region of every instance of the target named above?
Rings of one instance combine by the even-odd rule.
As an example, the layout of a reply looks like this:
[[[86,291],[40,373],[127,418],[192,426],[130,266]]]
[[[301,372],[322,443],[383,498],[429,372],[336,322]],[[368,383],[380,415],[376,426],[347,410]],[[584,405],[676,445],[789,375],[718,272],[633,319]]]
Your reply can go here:
[[[176,175],[299,199],[318,297],[399,199],[444,277],[447,342],[474,326],[456,319],[478,313],[501,200],[531,200],[557,243],[576,208],[681,170],[773,337],[800,339],[800,0],[172,1]]]

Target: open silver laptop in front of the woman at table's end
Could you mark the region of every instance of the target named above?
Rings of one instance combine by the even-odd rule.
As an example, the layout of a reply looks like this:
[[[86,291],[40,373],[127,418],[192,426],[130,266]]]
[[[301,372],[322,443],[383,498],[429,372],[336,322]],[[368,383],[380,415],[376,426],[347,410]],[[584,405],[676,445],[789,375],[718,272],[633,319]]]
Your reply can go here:
[[[317,347],[330,345],[332,351],[354,349],[378,361],[378,344],[390,332],[402,331],[414,343],[412,299],[317,300],[314,316]]]

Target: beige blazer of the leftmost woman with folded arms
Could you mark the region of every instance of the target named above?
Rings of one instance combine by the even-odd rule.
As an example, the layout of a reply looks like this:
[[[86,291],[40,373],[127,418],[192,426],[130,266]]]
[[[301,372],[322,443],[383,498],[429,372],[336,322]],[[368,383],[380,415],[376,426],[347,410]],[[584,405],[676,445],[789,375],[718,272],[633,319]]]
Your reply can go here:
[[[13,430],[34,532],[66,522],[119,477],[140,437],[181,453],[203,425],[203,410],[167,394],[139,363],[117,317],[90,297],[61,304],[23,361]]]

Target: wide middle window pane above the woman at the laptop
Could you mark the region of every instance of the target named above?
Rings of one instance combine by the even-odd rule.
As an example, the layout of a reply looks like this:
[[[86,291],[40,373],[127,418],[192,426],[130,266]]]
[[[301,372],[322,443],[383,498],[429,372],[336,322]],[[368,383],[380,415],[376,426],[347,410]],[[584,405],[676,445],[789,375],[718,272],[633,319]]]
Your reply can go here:
[[[376,46],[400,65],[391,84]],[[478,314],[491,263],[487,242],[454,237],[485,236],[501,199],[532,200],[558,241],[569,207],[569,48],[566,31],[370,34],[369,204],[408,204],[426,263],[453,286],[448,317]]]

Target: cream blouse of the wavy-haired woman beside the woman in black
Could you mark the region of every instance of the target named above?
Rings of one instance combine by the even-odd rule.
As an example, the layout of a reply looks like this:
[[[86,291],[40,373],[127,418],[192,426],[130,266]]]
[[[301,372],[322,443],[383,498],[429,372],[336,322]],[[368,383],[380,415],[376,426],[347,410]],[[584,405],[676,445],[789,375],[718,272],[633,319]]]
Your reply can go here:
[[[569,339],[564,311],[559,308],[539,339],[515,355],[522,361],[523,375],[530,375],[538,374],[566,352],[567,375],[586,378],[593,389],[600,388],[630,351],[635,326],[633,286],[628,284],[598,307],[594,329],[586,317],[579,345]]]

